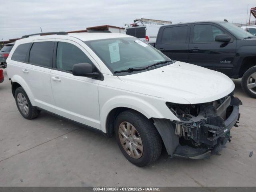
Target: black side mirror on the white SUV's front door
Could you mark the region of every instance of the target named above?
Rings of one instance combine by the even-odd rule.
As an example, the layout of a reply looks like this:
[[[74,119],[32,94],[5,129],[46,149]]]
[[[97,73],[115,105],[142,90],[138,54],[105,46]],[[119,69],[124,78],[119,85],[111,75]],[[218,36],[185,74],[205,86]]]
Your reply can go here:
[[[74,64],[72,68],[72,74],[74,76],[93,77],[93,78],[96,78],[100,75],[98,72],[93,72],[92,64],[89,64],[89,63]]]

